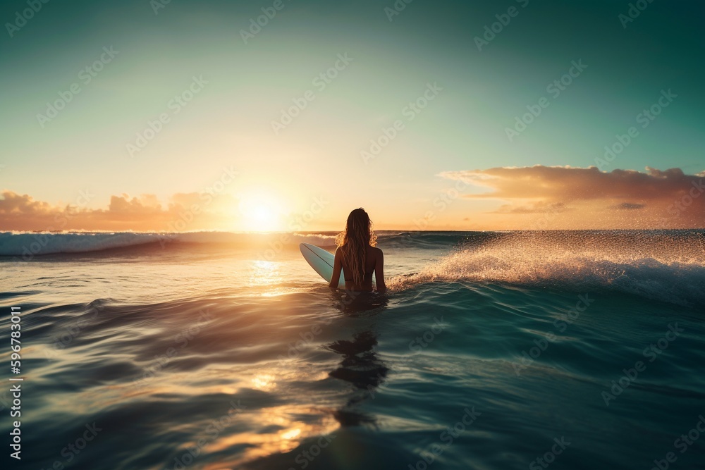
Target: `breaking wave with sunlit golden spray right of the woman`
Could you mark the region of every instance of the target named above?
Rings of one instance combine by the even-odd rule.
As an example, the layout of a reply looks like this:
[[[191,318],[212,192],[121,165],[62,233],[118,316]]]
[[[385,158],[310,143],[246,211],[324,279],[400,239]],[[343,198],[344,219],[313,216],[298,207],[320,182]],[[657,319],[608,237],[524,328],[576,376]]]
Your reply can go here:
[[[484,245],[467,242],[387,285],[434,282],[623,292],[696,307],[705,303],[705,237],[702,230],[511,233]]]

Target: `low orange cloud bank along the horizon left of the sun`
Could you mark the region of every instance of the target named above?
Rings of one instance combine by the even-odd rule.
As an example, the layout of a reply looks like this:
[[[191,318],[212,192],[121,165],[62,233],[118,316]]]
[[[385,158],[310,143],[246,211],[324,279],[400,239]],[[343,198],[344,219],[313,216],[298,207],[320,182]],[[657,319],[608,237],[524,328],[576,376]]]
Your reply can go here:
[[[107,209],[88,209],[89,199],[79,204],[52,206],[28,194],[0,192],[0,230],[212,230],[228,223],[237,202],[228,194],[178,193],[168,204],[154,194],[130,197],[114,195]],[[82,204],[82,205],[81,205]]]

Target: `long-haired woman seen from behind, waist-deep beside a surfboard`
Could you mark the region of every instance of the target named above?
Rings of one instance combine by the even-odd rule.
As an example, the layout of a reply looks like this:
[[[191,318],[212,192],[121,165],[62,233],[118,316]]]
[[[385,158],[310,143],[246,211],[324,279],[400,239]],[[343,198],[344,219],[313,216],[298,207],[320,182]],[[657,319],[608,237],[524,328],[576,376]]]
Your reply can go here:
[[[350,212],[345,230],[336,237],[336,259],[333,262],[333,278],[329,287],[336,289],[345,273],[345,290],[372,292],[372,272],[377,291],[384,292],[384,257],[382,250],[374,245],[377,236],[372,231],[372,221],[360,207]]]

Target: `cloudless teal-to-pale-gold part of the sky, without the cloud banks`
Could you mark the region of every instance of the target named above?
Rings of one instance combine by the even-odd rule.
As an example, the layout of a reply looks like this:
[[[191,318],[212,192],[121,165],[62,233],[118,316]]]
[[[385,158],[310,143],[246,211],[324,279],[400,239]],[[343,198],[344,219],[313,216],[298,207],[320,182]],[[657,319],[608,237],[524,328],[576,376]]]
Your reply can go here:
[[[166,205],[233,167],[238,178],[224,190],[233,201],[267,199],[295,214],[328,199],[311,229],[335,228],[357,206],[381,228],[414,228],[453,186],[441,172],[585,168],[630,126],[639,135],[603,170],[705,169],[701,1],[656,0],[623,27],[627,1],[415,0],[390,21],[391,0],[285,0],[247,44],[241,30],[274,1],[172,0],[157,14],[152,4],[49,1],[10,37],[7,23],[28,7],[3,2],[0,190],[51,205],[88,190],[90,209],[119,194]],[[517,15],[479,51],[474,38],[510,7]],[[119,52],[85,84],[80,70],[104,47]],[[325,89],[314,86],[338,54],[353,60]],[[587,68],[552,97],[546,87],[572,61]],[[169,101],[193,77],[207,83],[173,113]],[[42,128],[37,114],[73,83],[80,92]],[[405,106],[429,83],[442,90],[408,120]],[[642,128],[637,115],[669,89],[677,97]],[[307,90],[314,99],[275,134],[272,121]],[[505,129],[541,97],[549,106],[510,142]],[[169,122],[130,156],[128,144],[160,113]],[[395,120],[404,129],[365,164],[360,152]],[[478,228],[473,221],[501,204],[459,199],[436,223]]]

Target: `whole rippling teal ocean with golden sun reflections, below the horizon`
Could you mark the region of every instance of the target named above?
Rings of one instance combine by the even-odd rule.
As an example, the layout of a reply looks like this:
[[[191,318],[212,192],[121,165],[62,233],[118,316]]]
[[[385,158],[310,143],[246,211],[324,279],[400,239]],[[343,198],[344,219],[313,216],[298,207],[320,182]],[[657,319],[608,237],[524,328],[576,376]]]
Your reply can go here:
[[[4,468],[705,468],[705,230],[334,235],[0,233]]]

